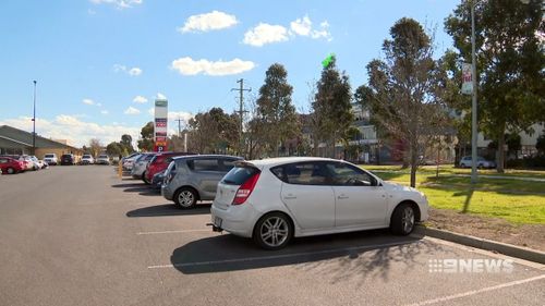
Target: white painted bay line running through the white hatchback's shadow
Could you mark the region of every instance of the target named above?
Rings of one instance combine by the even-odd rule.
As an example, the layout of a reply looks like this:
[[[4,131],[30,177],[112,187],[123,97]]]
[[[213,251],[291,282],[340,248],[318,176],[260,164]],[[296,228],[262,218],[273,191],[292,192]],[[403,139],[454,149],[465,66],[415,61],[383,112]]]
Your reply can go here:
[[[262,257],[247,257],[247,258],[234,258],[234,259],[226,259],[226,260],[157,265],[157,266],[148,266],[147,268],[148,269],[168,269],[168,268],[196,267],[196,266],[207,266],[207,265],[218,265],[218,264],[238,264],[238,262],[247,262],[247,261],[256,261],[256,260],[290,258],[290,257],[298,257],[298,256],[324,255],[324,254],[331,254],[331,253],[338,253],[338,252],[356,252],[356,250],[363,250],[363,249],[370,249],[370,248],[375,249],[375,248],[400,246],[400,245],[407,245],[407,244],[417,244],[420,242],[421,241],[372,244],[372,245],[365,245],[365,246],[342,247],[342,248],[325,249],[325,250],[317,250],[317,252],[302,252],[302,253],[271,255],[271,256],[262,256]]]

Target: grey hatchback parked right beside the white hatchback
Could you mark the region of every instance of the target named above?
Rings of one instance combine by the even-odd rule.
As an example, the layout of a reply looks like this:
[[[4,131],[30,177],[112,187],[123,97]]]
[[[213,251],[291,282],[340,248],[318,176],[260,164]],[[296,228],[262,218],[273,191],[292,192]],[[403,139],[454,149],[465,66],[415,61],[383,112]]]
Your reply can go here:
[[[213,200],[219,181],[239,160],[242,158],[225,155],[174,157],[165,174],[161,194],[180,208],[192,208],[197,200]]]

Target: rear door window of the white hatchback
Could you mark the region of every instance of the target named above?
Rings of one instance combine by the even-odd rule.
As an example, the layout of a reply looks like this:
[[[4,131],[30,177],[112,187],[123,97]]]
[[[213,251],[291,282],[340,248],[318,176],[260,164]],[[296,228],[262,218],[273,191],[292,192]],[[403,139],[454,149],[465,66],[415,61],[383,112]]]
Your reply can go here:
[[[275,172],[272,172],[275,173]],[[275,173],[276,174],[276,173]],[[330,176],[323,162],[292,163],[283,167],[283,176],[288,184],[329,185]]]

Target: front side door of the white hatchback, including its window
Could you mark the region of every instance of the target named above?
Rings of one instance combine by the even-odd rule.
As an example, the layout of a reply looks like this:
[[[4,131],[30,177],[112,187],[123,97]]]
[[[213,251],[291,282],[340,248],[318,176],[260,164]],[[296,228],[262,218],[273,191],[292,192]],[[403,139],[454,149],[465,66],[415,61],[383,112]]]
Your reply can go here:
[[[388,197],[377,180],[362,169],[344,162],[328,162],[335,193],[335,227],[386,224]]]

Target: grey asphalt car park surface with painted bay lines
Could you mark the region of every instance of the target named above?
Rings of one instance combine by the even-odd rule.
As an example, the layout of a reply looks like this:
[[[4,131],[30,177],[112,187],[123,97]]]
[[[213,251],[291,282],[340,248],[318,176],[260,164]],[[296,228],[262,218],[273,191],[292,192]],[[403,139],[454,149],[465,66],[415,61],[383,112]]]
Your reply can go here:
[[[545,267],[388,231],[296,238],[277,252],[215,233],[112,167],[4,175],[0,305],[543,305]],[[34,186],[34,192],[25,192]],[[439,271],[438,260],[513,260]],[[510,262],[510,261],[509,261]],[[435,265],[434,264],[434,265]]]

